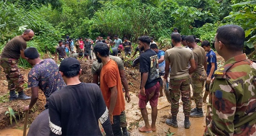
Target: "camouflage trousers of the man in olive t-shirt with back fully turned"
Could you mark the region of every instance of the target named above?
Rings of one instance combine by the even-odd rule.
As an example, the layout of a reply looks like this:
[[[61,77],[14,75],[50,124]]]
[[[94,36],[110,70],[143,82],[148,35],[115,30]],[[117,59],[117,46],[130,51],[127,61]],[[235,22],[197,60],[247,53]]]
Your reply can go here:
[[[177,113],[179,112],[179,100],[181,94],[181,100],[183,102],[183,113],[185,116],[189,116],[191,111],[189,85],[189,76],[170,79],[169,94],[172,99],[172,115],[177,116]]]

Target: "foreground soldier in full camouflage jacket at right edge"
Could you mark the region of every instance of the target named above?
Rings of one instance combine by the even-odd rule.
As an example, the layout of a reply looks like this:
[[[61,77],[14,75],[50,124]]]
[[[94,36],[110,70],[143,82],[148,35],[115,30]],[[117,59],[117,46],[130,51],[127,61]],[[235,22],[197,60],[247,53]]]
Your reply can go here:
[[[221,26],[215,49],[225,64],[210,85],[205,136],[256,136],[256,63],[243,54],[244,29]]]

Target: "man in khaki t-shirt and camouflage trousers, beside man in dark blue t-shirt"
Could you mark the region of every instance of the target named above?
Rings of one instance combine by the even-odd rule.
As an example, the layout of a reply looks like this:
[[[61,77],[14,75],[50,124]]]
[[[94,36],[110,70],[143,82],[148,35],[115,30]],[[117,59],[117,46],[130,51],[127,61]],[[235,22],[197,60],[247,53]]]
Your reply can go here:
[[[195,58],[195,70],[190,72],[191,74],[191,84],[193,88],[193,96],[195,99],[196,108],[191,110],[191,117],[203,117],[203,87],[206,79],[207,70],[207,59],[204,52],[204,48],[198,46],[195,42],[193,36],[187,36],[185,42],[189,48],[192,48],[194,58]]]

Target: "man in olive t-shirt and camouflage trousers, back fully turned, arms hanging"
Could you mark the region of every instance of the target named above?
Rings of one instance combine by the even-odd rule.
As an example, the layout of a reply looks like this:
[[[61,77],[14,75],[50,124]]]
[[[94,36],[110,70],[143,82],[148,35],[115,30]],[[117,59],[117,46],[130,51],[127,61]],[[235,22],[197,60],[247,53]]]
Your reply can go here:
[[[185,115],[184,127],[189,129],[189,114],[191,110],[190,105],[190,79],[189,72],[195,69],[195,59],[192,51],[189,48],[181,46],[181,36],[179,33],[173,33],[171,35],[174,48],[171,48],[165,52],[164,60],[165,74],[164,79],[169,76],[170,68],[170,82],[169,93],[172,99],[172,119],[166,119],[166,124],[177,128],[177,113],[179,112],[179,99],[181,94],[181,100],[183,102],[183,113]],[[191,67],[189,68],[189,62]]]

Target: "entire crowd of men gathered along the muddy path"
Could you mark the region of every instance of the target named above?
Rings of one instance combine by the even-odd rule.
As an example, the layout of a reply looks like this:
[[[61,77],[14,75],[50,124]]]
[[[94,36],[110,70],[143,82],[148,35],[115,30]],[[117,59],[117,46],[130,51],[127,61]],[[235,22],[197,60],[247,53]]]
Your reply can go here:
[[[116,56],[122,50],[125,51],[125,56],[131,56],[131,42],[127,38],[122,42],[117,35],[113,42],[110,37],[107,40],[98,37],[93,47],[93,42],[89,39],[84,42],[79,38],[74,44],[76,53],[81,53],[80,57],[91,59],[93,49],[97,59],[92,64],[92,83],[83,83],[79,80],[79,61],[72,56],[68,57],[69,51],[73,51],[73,41],[68,35],[65,46],[59,41],[56,48],[55,59],[57,60],[58,53],[61,61],[59,67],[52,59],[40,59],[36,48],[26,48],[26,41],[33,36],[32,30],[25,30],[22,35],[6,44],[0,58],[0,65],[8,80],[10,101],[30,99],[23,92],[24,79],[17,67],[20,57],[33,65],[28,75],[28,87],[32,88],[32,96],[30,104],[24,106],[24,111],[35,105],[38,88],[47,98],[46,110],[34,120],[28,135],[102,135],[100,122],[107,136],[129,136],[125,101],[130,102],[131,99],[122,59]],[[157,47],[153,38],[138,37],[139,46],[132,57],[137,51],[140,52],[133,64],[140,63],[138,105],[145,122],[145,126],[139,128],[140,132],[157,130],[157,104],[158,98],[163,96],[163,76],[163,79],[169,78],[168,96],[171,99],[172,117],[166,119],[167,125],[178,127],[180,96],[185,116],[184,128],[189,129],[189,117],[204,116],[202,106],[209,95],[205,136],[255,135],[256,62],[243,53],[244,29],[236,25],[218,28],[214,47],[225,61],[224,66],[218,70],[216,54],[209,41],[200,41],[191,35],[181,36],[176,29],[171,38],[173,48],[164,52]],[[197,42],[201,42],[201,46]],[[191,99],[195,99],[196,107],[193,109]],[[151,124],[146,109],[148,102],[151,106]]]

